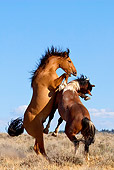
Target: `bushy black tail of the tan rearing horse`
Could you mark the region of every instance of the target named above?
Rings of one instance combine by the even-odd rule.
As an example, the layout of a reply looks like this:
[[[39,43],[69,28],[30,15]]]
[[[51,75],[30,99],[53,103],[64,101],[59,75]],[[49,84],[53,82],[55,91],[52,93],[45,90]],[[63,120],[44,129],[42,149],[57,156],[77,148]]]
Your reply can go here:
[[[11,120],[11,123],[8,127],[8,134],[10,136],[18,136],[21,135],[24,131],[23,127],[23,119],[22,118],[17,118],[15,120]]]

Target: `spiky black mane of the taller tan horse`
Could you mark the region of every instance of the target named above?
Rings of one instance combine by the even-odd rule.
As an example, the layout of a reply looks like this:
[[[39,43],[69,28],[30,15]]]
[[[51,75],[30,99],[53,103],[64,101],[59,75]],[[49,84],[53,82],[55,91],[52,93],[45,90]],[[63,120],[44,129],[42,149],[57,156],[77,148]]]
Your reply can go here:
[[[70,50],[67,48],[66,51],[62,51],[61,49],[57,49],[55,47],[51,47],[51,49],[47,49],[47,51],[45,51],[45,55],[42,55],[42,58],[40,58],[40,61],[39,63],[37,63],[37,68],[35,70],[32,71],[32,77],[31,77],[31,87],[33,87],[33,81],[35,79],[35,77],[37,76],[37,71],[40,69],[40,68],[45,68],[46,64],[48,63],[48,59],[51,57],[51,56],[56,56],[56,57],[66,57],[66,55],[69,57],[69,53],[70,53]]]

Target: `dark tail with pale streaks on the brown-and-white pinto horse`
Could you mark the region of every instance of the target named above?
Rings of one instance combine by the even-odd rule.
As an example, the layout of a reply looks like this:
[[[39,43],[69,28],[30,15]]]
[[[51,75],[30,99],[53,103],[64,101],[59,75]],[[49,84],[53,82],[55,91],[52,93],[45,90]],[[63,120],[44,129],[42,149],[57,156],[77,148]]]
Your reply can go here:
[[[91,120],[87,117],[82,119],[82,134],[86,139],[86,143],[91,145],[95,141],[95,131],[96,128]]]

